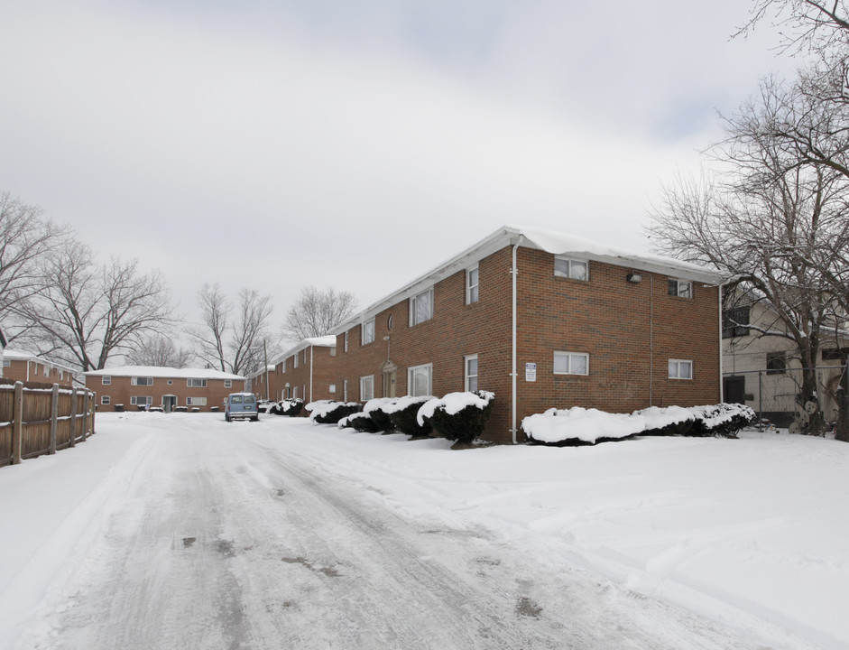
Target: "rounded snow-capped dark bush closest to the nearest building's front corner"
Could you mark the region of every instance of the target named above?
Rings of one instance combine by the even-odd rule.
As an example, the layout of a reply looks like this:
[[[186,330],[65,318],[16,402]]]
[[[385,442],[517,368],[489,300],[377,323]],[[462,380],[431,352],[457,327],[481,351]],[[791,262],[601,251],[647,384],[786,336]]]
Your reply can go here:
[[[430,422],[434,431],[450,441],[468,444],[484,432],[494,402],[495,395],[489,391],[448,393],[422,404],[417,419],[420,425]]]

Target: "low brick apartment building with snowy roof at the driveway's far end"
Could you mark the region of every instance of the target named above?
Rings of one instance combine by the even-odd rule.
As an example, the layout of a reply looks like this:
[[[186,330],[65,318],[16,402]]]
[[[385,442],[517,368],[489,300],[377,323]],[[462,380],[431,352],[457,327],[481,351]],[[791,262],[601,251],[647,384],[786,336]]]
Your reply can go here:
[[[245,377],[206,368],[125,366],[90,370],[86,387],[97,393],[100,410],[116,405],[127,411],[161,406],[166,412],[178,406],[210,411],[220,408],[230,393],[245,390]]]

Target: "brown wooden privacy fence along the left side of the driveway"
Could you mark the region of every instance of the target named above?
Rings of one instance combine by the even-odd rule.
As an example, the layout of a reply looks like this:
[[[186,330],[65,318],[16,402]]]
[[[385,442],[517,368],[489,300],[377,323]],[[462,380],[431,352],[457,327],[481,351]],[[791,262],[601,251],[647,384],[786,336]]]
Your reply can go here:
[[[73,447],[95,432],[88,388],[0,379],[0,467]]]

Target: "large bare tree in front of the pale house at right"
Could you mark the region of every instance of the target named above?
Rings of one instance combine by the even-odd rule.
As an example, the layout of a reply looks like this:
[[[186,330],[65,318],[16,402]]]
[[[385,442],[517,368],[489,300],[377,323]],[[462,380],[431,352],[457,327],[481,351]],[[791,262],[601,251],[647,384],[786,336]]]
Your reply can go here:
[[[779,95],[766,80],[760,100],[726,119],[728,137],[712,149],[718,171],[667,188],[649,231],[657,250],[714,265],[770,307],[774,323],[748,327],[793,342],[806,368],[802,398],[818,403],[812,368],[835,317],[820,263],[835,238],[845,236],[849,184],[828,166],[794,164],[786,143],[762,128]],[[809,431],[822,424],[820,413]]]

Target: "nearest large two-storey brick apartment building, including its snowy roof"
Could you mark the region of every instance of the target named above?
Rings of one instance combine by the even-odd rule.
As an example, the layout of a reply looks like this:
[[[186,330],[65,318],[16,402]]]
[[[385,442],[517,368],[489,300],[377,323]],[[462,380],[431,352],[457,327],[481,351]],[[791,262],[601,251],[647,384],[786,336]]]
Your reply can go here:
[[[495,394],[484,435],[555,406],[627,413],[721,397],[720,283],[703,267],[504,227],[337,337],[331,396]]]

